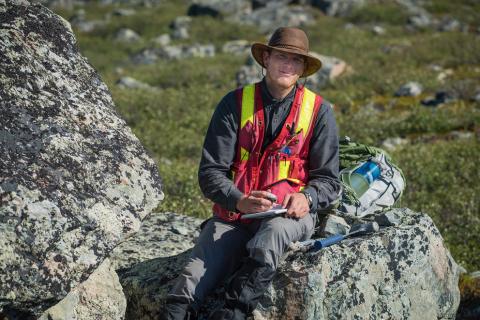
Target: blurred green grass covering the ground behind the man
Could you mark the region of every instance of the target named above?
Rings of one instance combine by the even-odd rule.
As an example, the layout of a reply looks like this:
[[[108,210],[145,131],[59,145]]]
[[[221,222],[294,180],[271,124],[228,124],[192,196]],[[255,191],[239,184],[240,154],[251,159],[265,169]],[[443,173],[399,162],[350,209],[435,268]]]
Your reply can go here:
[[[473,0],[458,5],[447,0],[428,3],[427,9],[438,18],[450,15],[472,26],[480,21],[478,2]],[[114,6],[93,3],[84,8],[87,19],[101,19]],[[211,203],[201,195],[197,182],[203,138],[216,104],[235,88],[235,73],[246,59],[220,50],[229,40],[263,41],[264,36],[228,18],[196,17],[190,39],[172,44],[213,43],[215,58],[133,65],[130,56],[153,46],[151,40],[156,36],[169,33],[171,21],[185,15],[187,8],[186,0],[136,7],[137,14],[112,16],[95,32],[77,32],[77,39],[81,52],[109,86],[120,114],[158,164],[166,194],[159,209],[207,217]],[[73,11],[60,13],[68,18]],[[480,269],[478,134],[467,140],[444,139],[452,130],[479,130],[480,105],[468,99],[480,86],[478,35],[429,29],[408,32],[405,10],[389,1],[357,9],[346,18],[327,17],[316,9],[312,13],[315,23],[306,27],[311,49],[341,58],[353,70],[321,92],[336,104],[340,134],[377,146],[397,136],[423,141],[392,154],[407,178],[401,204],[428,213],[456,261],[470,271]],[[347,23],[356,26],[347,29]],[[382,25],[387,33],[374,35],[374,24]],[[115,42],[113,35],[124,27],[139,33],[142,40],[136,44]],[[453,75],[440,82],[431,64],[450,68]],[[120,89],[115,82],[121,76],[134,77],[157,89]],[[394,97],[407,81],[420,82],[424,93]],[[420,104],[437,90],[458,87],[464,93],[456,102],[437,108]],[[422,139],[424,136],[429,138]],[[426,142],[431,140],[434,142]]]

